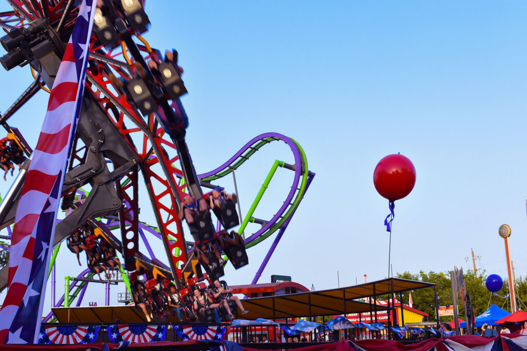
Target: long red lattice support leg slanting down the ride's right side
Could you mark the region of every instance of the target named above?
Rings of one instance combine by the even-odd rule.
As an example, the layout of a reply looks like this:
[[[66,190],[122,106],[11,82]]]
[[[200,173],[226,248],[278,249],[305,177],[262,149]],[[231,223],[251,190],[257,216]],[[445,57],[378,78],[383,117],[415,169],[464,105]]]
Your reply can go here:
[[[144,47],[141,48],[146,51]],[[174,279],[178,279],[181,277],[181,267],[186,261],[186,243],[177,217],[181,198],[185,195],[185,186],[180,184],[182,172],[176,167],[179,163],[177,151],[171,141],[163,138],[165,133],[162,128],[157,127],[153,116],[149,117],[147,123],[121,94],[119,86],[116,86],[119,81],[115,76],[129,78],[125,69],[134,69],[126,62],[115,62],[117,57],[122,57],[122,52],[103,53],[99,47],[93,47],[92,52],[110,60],[106,63],[99,59],[90,60],[86,85],[90,87],[110,121],[142,160],[140,166],[144,182]],[[155,53],[147,56],[150,55]],[[133,124],[130,128],[125,124],[125,116]]]

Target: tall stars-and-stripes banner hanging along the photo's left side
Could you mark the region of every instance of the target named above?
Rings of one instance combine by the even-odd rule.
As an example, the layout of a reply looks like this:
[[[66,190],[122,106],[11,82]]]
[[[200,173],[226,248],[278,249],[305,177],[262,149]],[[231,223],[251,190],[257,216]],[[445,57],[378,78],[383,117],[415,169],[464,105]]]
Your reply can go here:
[[[22,187],[0,310],[0,342],[37,343],[64,173],[79,119],[96,0],[83,0]]]

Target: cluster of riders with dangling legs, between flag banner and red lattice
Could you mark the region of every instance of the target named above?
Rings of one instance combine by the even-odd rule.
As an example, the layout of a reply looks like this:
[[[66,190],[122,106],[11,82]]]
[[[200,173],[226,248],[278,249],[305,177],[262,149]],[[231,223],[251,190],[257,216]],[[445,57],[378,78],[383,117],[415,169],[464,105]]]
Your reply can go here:
[[[71,252],[77,255],[79,266],[82,266],[80,254],[84,251],[88,268],[97,274],[101,280],[101,273],[104,273],[108,279],[108,270],[121,269],[121,261],[116,255],[115,248],[105,238],[97,237],[89,224],[75,230],[67,238],[67,246]]]

